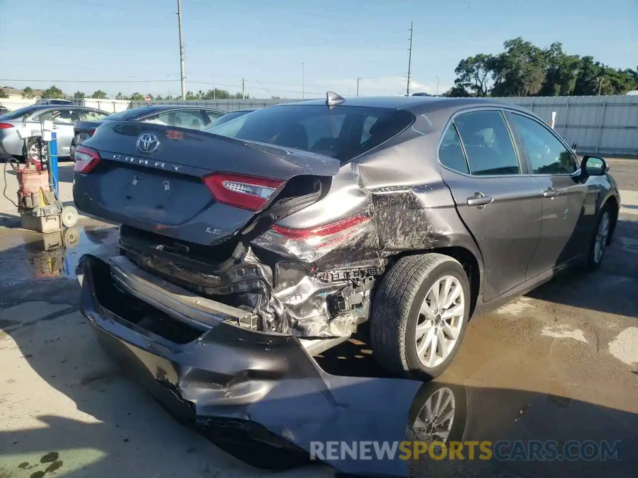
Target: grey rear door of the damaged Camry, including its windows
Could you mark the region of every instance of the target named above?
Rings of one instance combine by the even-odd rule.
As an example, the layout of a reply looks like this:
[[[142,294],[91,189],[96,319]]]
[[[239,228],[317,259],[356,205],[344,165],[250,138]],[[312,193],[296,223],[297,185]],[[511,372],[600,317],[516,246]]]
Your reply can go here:
[[[484,260],[484,300],[522,284],[540,240],[541,194],[498,109],[453,117],[439,148],[443,181]]]

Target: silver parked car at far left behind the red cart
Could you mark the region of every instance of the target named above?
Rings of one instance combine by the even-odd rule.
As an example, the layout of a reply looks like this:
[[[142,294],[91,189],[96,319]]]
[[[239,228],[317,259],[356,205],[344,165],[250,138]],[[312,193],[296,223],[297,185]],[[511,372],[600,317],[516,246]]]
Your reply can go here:
[[[75,122],[100,120],[108,114],[95,108],[75,105],[31,105],[4,113],[0,115],[0,157],[22,158],[24,141],[18,136],[17,128],[26,125],[31,129],[40,129],[40,123],[44,120],[53,122],[58,156],[69,157]],[[35,140],[29,141],[27,148],[34,148],[35,144]]]

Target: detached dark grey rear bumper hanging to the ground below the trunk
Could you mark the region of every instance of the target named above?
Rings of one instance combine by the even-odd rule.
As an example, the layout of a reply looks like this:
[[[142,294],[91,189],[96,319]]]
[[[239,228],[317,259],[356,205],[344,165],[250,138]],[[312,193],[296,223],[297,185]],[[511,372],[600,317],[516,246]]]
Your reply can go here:
[[[320,377],[298,338],[249,330],[240,325],[247,312],[191,294],[124,257],[107,263],[83,256],[77,275],[82,314],[101,345],[182,419],[219,416],[220,407],[239,407],[230,414],[239,417],[282,380]],[[311,350],[325,347],[324,340],[306,342]]]

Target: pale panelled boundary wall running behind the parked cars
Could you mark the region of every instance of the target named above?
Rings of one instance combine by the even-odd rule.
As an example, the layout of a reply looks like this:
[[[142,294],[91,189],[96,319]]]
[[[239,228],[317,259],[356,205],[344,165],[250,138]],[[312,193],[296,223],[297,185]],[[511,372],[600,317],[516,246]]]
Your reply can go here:
[[[638,96],[550,96],[494,98],[528,108],[545,121],[556,112],[556,131],[579,154],[638,157]],[[297,99],[131,101],[131,107],[158,104],[206,105],[226,112],[265,108]]]

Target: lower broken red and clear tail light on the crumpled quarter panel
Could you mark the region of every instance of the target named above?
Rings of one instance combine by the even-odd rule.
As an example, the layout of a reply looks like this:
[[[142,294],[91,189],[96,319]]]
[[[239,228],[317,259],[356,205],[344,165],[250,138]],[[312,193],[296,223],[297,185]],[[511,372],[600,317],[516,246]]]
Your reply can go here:
[[[369,216],[356,215],[311,229],[288,229],[275,225],[255,238],[253,243],[278,254],[296,257],[303,262],[314,262],[359,238],[370,221]]]

